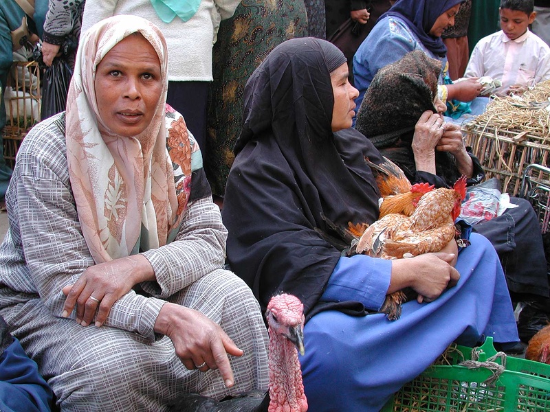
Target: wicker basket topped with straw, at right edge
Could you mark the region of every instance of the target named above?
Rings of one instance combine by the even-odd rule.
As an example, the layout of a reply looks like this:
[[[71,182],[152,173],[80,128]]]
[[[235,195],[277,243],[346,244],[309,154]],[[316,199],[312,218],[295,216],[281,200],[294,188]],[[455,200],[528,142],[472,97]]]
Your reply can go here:
[[[540,137],[521,130],[496,130],[475,124],[463,127],[466,146],[478,157],[487,179],[496,177],[501,192],[517,196],[523,172],[531,163],[550,165],[550,137]]]

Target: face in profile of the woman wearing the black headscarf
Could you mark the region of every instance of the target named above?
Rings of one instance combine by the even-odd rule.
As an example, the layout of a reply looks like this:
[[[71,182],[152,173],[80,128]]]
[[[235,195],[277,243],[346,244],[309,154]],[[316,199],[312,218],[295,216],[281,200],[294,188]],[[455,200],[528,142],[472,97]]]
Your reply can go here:
[[[359,91],[348,81],[349,71],[347,63],[331,72],[332,93],[334,95],[334,107],[332,109],[332,131],[337,132],[350,128],[353,124],[355,112],[355,98]]]

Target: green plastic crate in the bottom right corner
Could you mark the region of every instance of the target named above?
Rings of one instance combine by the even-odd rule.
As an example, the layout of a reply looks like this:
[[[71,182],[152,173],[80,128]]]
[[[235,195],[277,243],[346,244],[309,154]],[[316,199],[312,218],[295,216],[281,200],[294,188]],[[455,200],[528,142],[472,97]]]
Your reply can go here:
[[[494,371],[486,367],[468,369],[458,364],[472,360],[472,348],[456,347],[448,354],[451,365],[432,365],[409,382],[382,412],[478,412],[550,411],[550,365],[503,356],[492,361],[504,367],[493,384]],[[496,355],[492,338],[475,348],[479,362]]]

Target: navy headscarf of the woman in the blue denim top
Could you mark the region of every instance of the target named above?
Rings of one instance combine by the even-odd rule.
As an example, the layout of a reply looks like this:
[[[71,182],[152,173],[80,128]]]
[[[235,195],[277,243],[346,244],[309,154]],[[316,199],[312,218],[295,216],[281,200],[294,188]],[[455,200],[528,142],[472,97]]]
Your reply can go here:
[[[430,30],[441,14],[452,8],[454,5],[462,3],[464,0],[399,0],[388,12],[382,14],[380,19],[385,16],[397,16],[402,19],[416,34],[421,43],[437,56],[445,56],[447,48],[443,44],[441,37],[430,35]]]

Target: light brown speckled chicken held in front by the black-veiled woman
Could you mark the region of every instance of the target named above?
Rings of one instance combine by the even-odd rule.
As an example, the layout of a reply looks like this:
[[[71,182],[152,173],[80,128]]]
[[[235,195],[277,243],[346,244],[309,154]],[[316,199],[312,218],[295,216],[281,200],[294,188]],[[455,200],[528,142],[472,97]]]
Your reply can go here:
[[[454,220],[459,216],[466,194],[466,178],[462,176],[452,189],[440,187],[421,196],[410,216],[387,214],[373,222],[355,247],[357,253],[376,258],[399,259],[437,252],[455,236]],[[381,311],[388,319],[401,316],[403,291],[386,297]]]

